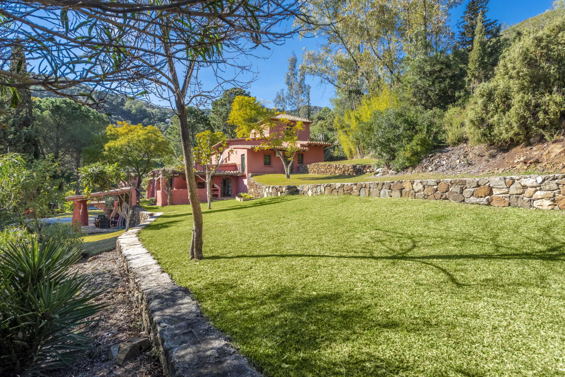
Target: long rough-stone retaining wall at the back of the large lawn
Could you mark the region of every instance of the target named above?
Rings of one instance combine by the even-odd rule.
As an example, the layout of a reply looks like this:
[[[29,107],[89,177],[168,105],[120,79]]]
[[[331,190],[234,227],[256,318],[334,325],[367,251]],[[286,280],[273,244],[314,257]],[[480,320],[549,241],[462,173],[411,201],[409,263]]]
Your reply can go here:
[[[249,181],[253,181],[251,178]],[[251,187],[251,186],[250,186]],[[440,180],[398,180],[264,186],[253,181],[254,198],[284,195],[352,195],[450,200],[497,207],[565,209],[565,174]]]

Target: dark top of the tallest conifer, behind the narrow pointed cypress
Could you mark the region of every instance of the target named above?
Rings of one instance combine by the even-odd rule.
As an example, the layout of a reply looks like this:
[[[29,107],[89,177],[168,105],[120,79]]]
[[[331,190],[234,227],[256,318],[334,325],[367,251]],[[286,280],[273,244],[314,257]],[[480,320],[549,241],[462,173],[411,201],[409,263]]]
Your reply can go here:
[[[489,10],[487,7],[488,3],[489,0],[469,0],[467,8],[461,17],[462,21],[459,21],[459,47],[466,49],[468,52],[473,47],[475,28],[477,27],[477,19],[479,19],[480,12],[483,12],[486,38],[492,40],[499,37],[501,25],[498,23],[498,20],[491,21],[485,18],[486,12]]]

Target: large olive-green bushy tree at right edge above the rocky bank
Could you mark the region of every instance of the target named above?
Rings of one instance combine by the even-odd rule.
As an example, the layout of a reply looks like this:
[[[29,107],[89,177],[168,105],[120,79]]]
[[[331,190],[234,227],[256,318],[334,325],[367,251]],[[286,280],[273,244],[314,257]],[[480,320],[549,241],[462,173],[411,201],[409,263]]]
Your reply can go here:
[[[565,119],[565,20],[525,34],[503,55],[492,80],[479,85],[468,113],[470,140],[522,142],[553,137]]]

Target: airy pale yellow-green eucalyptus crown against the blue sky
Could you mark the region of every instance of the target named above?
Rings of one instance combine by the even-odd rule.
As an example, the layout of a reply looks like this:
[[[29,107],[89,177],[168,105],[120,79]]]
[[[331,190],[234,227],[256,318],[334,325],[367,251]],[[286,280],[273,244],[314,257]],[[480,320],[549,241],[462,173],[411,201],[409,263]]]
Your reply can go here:
[[[303,36],[322,36],[302,68],[353,100],[398,83],[406,56],[450,49],[449,10],[462,0],[313,0]],[[298,23],[300,20],[298,20]]]

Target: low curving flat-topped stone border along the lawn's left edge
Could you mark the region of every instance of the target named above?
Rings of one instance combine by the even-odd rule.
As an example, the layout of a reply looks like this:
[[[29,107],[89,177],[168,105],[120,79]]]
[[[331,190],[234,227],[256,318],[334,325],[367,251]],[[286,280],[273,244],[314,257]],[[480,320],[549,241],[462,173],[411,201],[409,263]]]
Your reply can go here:
[[[141,244],[138,233],[153,214],[118,237],[116,249],[129,275],[142,323],[168,377],[260,377],[212,326],[188,288],[179,287]]]

